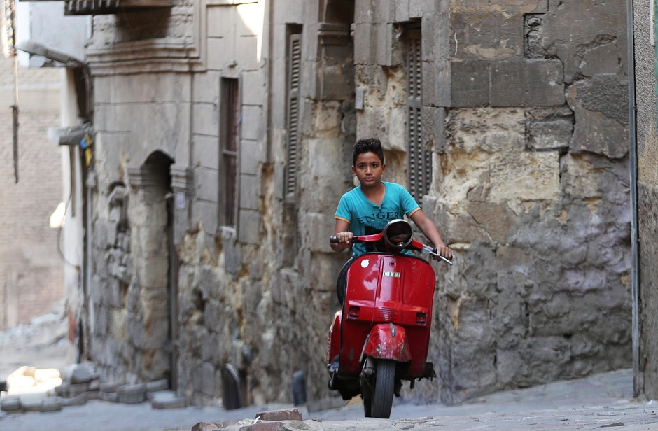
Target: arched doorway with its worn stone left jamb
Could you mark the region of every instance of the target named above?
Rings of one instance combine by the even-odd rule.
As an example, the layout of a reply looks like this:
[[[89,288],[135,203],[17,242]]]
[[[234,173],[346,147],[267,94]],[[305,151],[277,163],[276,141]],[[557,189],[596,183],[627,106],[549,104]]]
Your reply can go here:
[[[135,371],[147,381],[167,379],[169,387],[176,389],[179,265],[173,240],[173,163],[172,157],[155,151],[139,169],[129,170],[129,179],[134,288],[139,291],[134,323],[138,336],[144,337]]]

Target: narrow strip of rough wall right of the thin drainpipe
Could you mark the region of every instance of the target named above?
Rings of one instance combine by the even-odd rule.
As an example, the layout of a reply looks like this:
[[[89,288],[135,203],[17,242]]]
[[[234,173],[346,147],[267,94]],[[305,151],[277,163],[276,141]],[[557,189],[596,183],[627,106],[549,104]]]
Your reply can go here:
[[[635,80],[637,106],[638,160],[638,250],[639,250],[639,386],[647,398],[658,398],[658,330],[655,312],[658,306],[658,269],[654,264],[658,250],[656,202],[658,199],[658,99],[656,87],[656,50],[650,41],[649,4],[633,2],[635,30]]]

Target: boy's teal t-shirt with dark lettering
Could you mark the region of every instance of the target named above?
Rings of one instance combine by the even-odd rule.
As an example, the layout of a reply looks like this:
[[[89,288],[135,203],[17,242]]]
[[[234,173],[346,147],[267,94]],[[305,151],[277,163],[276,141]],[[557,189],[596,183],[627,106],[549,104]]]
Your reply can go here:
[[[338,203],[335,218],[349,222],[349,229],[356,235],[372,235],[381,232],[386,223],[396,218],[410,217],[419,205],[407,189],[396,183],[382,182],[386,186],[381,205],[376,205],[363,195],[361,186],[346,192]],[[365,253],[365,245],[353,244],[353,256]]]

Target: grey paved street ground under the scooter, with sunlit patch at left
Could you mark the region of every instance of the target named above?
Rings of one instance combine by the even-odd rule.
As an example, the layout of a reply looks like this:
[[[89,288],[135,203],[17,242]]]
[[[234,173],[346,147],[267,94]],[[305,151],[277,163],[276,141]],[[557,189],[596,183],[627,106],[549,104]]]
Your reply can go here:
[[[48,323],[51,330],[57,325]],[[57,331],[55,331],[57,332]],[[70,352],[61,342],[43,346],[40,330],[23,328],[22,335],[0,333],[0,377],[20,365],[68,365]],[[19,340],[28,339],[25,345]],[[42,353],[45,353],[43,355]],[[38,362],[40,360],[46,363]],[[22,362],[22,361],[30,361]],[[36,361],[36,362],[34,362]],[[363,418],[363,407],[351,402],[337,409],[308,412],[299,407],[303,422],[286,422],[286,430],[658,430],[658,403],[632,400],[631,370],[598,374],[587,379],[559,381],[524,390],[509,390],[461,406],[405,404],[396,399],[391,419]],[[221,407],[153,409],[151,404],[90,401],[52,413],[3,414],[0,430],[54,431],[174,431],[191,430],[199,422],[241,421],[240,430],[263,410],[291,405],[270,404],[225,411]]]

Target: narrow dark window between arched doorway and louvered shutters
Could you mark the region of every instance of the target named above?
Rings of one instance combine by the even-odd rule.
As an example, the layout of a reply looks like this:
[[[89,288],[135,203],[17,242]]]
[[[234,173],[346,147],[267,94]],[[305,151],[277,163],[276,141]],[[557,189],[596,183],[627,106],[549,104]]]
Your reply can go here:
[[[220,222],[235,226],[237,217],[237,160],[240,130],[239,82],[222,78],[220,111]]]

